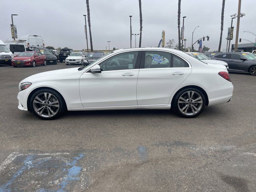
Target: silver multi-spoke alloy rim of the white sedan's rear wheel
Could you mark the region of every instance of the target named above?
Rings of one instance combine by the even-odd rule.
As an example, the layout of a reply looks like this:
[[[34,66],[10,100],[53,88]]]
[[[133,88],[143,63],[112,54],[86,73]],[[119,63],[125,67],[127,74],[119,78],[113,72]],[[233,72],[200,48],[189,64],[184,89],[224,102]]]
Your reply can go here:
[[[203,106],[203,99],[198,92],[184,92],[178,99],[178,108],[182,114],[193,116],[200,112]]]

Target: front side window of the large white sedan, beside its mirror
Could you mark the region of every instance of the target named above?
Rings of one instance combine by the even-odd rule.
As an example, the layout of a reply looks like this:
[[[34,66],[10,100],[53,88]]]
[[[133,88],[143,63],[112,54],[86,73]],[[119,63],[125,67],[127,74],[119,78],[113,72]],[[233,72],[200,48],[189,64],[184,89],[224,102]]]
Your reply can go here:
[[[100,64],[102,71],[134,69],[138,51],[120,53],[108,58]]]

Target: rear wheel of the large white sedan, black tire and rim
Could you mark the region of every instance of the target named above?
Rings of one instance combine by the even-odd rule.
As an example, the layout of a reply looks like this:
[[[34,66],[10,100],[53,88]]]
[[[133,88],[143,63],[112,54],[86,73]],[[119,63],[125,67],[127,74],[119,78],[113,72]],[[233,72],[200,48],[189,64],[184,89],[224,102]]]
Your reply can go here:
[[[188,96],[188,92],[190,96]],[[181,96],[186,100],[186,102],[180,99]],[[198,97],[198,100],[196,100],[196,96]],[[195,100],[195,102],[193,102],[193,100]],[[201,101],[202,103],[199,103]],[[174,99],[172,100],[171,107],[174,109],[174,112],[176,112],[176,114],[178,114],[179,116],[182,116],[184,118],[194,118],[198,116],[200,113],[202,113],[205,107],[205,103],[205,96],[200,90],[195,88],[186,88],[180,90],[178,94],[175,95]],[[183,112],[182,109],[184,109]],[[198,111],[196,109],[198,109]]]

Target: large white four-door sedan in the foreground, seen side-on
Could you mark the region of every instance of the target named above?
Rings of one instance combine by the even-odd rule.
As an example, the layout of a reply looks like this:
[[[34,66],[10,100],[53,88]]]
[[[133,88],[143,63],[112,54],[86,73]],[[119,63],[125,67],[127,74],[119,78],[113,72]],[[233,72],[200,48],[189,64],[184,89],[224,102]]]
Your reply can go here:
[[[166,109],[198,116],[229,102],[233,85],[223,65],[169,48],[114,51],[86,67],[32,75],[19,84],[18,108],[44,120],[66,110]]]

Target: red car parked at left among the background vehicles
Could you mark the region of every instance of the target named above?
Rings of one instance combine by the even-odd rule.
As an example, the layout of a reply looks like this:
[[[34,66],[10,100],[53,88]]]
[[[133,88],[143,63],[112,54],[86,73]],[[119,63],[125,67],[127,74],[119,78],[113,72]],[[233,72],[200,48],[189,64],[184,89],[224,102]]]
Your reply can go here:
[[[12,58],[12,66],[32,66],[46,65],[46,56],[40,52],[24,51]]]

